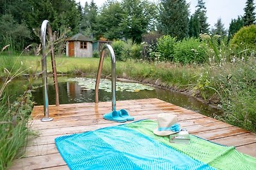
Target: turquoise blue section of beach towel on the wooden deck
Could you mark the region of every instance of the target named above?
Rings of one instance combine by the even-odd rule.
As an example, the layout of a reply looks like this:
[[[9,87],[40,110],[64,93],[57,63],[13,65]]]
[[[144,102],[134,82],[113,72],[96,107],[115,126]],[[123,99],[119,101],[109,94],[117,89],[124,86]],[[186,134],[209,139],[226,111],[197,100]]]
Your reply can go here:
[[[70,169],[214,169],[125,125],[55,139]]]

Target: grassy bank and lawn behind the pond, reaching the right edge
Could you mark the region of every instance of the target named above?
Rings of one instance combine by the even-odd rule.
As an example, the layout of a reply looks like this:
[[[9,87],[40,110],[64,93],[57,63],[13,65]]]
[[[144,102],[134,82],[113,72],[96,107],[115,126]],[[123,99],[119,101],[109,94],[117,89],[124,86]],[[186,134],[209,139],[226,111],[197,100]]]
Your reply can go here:
[[[20,57],[24,67],[36,66],[40,57]],[[79,74],[95,78],[98,58],[56,57],[61,74]],[[47,60],[51,66],[51,60]],[[33,68],[35,71],[36,69]],[[50,70],[50,69],[48,69]],[[33,73],[33,71],[30,71]],[[111,75],[111,61],[104,59],[102,77]],[[256,132],[256,60],[236,60],[234,63],[181,66],[169,62],[116,62],[116,76],[150,83],[203,99],[224,111],[218,119]]]

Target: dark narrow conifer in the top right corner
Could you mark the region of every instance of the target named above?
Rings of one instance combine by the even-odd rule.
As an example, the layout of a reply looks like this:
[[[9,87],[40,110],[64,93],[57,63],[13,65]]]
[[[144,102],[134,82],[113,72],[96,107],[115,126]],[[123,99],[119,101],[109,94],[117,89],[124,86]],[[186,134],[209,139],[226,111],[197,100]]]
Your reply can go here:
[[[255,6],[253,0],[246,1],[246,7],[244,8],[244,26],[252,25],[255,22]]]

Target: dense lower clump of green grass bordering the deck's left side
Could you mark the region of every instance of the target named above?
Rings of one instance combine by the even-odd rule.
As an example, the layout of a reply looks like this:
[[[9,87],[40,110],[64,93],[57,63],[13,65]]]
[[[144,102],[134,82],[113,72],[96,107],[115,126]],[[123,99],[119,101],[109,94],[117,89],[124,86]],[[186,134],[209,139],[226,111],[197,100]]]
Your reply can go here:
[[[15,103],[1,97],[0,106],[0,169],[7,169],[13,159],[22,157],[22,146],[26,146],[30,131],[26,127],[33,103],[30,92],[25,92]]]

